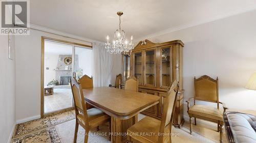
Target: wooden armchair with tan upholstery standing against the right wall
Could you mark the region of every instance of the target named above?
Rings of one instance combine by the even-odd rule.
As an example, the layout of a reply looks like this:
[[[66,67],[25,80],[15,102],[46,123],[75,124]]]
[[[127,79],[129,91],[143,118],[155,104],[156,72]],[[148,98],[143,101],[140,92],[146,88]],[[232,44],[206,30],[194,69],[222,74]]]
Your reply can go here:
[[[192,134],[193,121],[192,118],[195,118],[195,125],[197,125],[197,118],[207,120],[210,122],[215,122],[218,124],[218,132],[220,132],[220,142],[223,142],[223,112],[219,109],[219,104],[222,104],[224,112],[227,107],[224,103],[219,102],[219,85],[218,77],[217,79],[212,79],[207,75],[203,75],[200,78],[194,78],[194,98],[189,98],[187,102],[187,112],[189,115],[190,122],[190,134]],[[190,100],[194,99],[194,105],[190,107]],[[207,101],[217,103],[217,108],[205,106],[205,105],[196,105],[196,100]]]

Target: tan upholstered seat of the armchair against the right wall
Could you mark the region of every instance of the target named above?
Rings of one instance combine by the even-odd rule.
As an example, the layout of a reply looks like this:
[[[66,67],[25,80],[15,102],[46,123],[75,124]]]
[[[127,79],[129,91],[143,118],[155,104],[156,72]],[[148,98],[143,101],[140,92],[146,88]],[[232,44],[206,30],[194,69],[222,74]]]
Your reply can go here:
[[[223,121],[222,111],[211,106],[205,105],[193,105],[189,108],[188,113],[191,115],[198,115],[210,119],[215,119],[219,121]]]

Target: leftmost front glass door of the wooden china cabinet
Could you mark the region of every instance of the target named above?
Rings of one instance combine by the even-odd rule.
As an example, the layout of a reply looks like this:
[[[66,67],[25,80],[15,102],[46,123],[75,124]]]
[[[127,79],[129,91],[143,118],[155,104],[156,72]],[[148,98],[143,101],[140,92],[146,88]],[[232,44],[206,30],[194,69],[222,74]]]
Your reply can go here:
[[[139,84],[142,85],[142,52],[134,53],[134,76],[139,78]]]

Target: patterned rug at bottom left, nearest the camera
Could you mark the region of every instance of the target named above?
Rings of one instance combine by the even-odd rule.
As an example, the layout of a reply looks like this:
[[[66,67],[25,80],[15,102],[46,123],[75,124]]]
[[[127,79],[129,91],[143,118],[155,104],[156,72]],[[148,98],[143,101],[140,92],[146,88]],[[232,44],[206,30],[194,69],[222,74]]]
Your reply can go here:
[[[12,139],[12,143],[61,143],[55,127]]]

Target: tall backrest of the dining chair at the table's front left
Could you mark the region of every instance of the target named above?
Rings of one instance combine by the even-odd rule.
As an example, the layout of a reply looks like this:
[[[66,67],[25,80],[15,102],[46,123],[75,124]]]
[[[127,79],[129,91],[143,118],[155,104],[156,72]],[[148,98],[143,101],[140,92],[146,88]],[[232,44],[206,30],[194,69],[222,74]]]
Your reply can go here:
[[[74,103],[75,103],[75,113],[76,117],[79,114],[79,111],[83,114],[83,120],[86,123],[86,126],[89,127],[89,123],[86,122],[88,121],[88,115],[87,115],[87,108],[86,108],[86,102],[84,102],[84,96],[82,92],[82,87],[81,84],[78,84],[76,78],[72,77],[70,79],[71,83],[71,89],[72,89],[72,94],[74,98]]]

